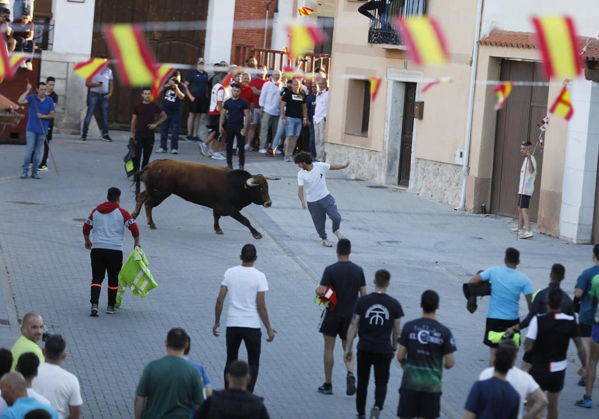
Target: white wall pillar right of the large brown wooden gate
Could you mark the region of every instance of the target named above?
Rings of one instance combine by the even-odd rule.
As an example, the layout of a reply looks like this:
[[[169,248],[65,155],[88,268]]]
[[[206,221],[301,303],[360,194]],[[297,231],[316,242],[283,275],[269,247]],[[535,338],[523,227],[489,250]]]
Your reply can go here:
[[[235,0],[210,0],[204,59],[206,63],[229,62],[233,42]]]

